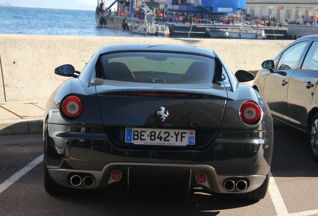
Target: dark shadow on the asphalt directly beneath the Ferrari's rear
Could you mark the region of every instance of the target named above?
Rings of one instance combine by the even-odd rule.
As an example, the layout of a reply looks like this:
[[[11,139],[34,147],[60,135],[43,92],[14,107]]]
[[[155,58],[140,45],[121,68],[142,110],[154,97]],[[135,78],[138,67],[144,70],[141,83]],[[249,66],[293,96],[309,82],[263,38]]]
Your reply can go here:
[[[122,187],[82,191],[67,196],[54,196],[63,202],[90,208],[91,215],[217,215],[220,210],[252,205],[222,194],[208,194],[195,189],[188,197],[174,185],[135,184],[129,194]],[[87,206],[87,203],[91,206]],[[109,212],[109,209],[113,209]],[[104,211],[103,211],[104,210]],[[96,212],[93,212],[96,211]]]

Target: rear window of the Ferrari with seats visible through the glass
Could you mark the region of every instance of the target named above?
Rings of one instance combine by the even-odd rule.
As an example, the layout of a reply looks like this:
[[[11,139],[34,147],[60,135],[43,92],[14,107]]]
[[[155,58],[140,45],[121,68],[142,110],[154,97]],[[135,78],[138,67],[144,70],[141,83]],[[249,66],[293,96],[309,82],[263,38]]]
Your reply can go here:
[[[102,78],[143,83],[211,83],[214,59],[192,54],[120,52],[102,56]]]

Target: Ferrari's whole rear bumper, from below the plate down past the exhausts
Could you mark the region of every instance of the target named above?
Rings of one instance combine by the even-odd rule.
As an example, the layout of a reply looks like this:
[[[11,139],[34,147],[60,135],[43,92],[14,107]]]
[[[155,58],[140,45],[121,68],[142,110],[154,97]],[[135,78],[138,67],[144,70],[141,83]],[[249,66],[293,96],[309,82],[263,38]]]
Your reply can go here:
[[[207,147],[186,149],[118,148],[101,133],[102,127],[83,130],[67,125],[64,133],[57,132],[62,128],[58,124],[48,124],[48,128],[46,167],[52,179],[66,187],[104,188],[117,182],[129,187],[147,182],[199,186],[220,193],[248,192],[263,183],[272,155],[272,130],[220,131]],[[114,170],[121,173],[120,179],[111,177]],[[205,174],[204,182],[197,181],[199,173]],[[77,183],[71,182],[72,176]],[[246,183],[243,190],[235,188],[240,180]],[[234,188],[225,189],[224,182],[233,183]]]

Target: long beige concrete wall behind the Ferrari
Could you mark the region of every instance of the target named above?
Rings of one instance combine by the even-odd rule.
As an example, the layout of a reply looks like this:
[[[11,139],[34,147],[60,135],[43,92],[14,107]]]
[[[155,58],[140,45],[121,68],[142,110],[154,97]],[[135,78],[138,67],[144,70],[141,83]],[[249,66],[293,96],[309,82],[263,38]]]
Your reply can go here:
[[[235,72],[260,69],[291,40],[0,34],[0,102],[45,101],[66,79],[54,74],[55,67],[70,63],[81,70],[102,45],[140,42],[214,49]]]

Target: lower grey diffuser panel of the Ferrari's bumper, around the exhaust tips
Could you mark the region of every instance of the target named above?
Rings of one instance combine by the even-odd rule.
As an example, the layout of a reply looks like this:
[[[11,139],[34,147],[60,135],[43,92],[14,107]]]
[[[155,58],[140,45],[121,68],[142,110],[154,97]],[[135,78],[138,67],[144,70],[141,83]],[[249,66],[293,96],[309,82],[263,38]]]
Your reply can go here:
[[[127,188],[130,183],[135,182],[174,183],[182,184],[188,190],[195,185],[218,193],[249,192],[258,188],[266,177],[266,175],[260,174],[218,175],[215,169],[208,165],[177,163],[112,162],[105,165],[101,171],[60,168],[51,168],[48,171],[57,183],[66,187],[104,188],[119,181],[126,184]],[[111,177],[113,171],[121,173],[118,180]],[[204,173],[206,176],[206,180],[203,182],[197,180],[197,175],[200,173]],[[80,182],[76,181],[78,184],[72,182],[72,176],[79,176]],[[93,183],[85,183],[86,176],[91,176],[94,179]],[[246,182],[246,188],[240,188],[239,181]],[[233,182],[233,188],[230,185],[229,187],[224,186],[225,182]]]

